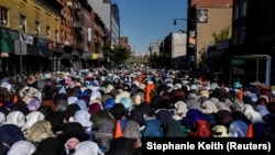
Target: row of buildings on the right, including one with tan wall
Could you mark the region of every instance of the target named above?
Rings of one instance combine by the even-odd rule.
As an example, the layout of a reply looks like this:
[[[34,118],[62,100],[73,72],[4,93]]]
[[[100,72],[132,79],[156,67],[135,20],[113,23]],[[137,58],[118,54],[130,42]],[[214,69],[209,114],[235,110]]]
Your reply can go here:
[[[150,44],[148,52],[168,53],[170,67],[195,65],[220,77],[220,82],[274,85],[274,10],[273,0],[188,0],[187,32],[172,32]],[[224,34],[227,29],[230,37],[217,42],[213,33]]]

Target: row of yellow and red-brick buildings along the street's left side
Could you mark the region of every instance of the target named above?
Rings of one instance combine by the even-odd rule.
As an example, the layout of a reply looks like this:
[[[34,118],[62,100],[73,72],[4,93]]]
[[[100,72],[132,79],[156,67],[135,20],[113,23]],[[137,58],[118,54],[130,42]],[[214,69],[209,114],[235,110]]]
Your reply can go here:
[[[110,0],[1,0],[0,40],[10,75],[86,68],[105,60],[107,45],[130,48]]]

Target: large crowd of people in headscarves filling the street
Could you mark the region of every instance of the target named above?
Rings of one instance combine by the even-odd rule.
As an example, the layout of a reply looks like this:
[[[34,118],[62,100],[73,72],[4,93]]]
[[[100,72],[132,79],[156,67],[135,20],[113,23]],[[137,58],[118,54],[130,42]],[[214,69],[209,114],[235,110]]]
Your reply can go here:
[[[143,137],[273,137],[275,90],[182,70],[92,68],[1,80],[0,154],[139,155]]]

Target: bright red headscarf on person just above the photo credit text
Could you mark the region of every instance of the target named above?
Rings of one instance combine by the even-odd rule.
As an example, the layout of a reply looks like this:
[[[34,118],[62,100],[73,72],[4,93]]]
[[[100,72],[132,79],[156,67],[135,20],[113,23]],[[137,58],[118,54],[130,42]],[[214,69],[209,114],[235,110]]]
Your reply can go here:
[[[198,120],[191,126],[190,137],[212,137],[210,123],[206,120]]]

